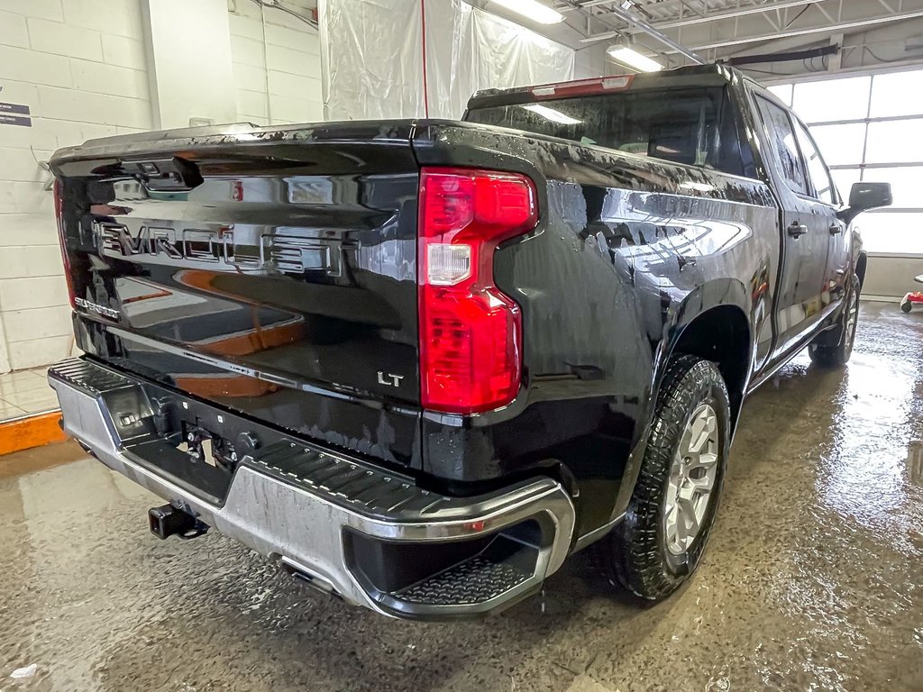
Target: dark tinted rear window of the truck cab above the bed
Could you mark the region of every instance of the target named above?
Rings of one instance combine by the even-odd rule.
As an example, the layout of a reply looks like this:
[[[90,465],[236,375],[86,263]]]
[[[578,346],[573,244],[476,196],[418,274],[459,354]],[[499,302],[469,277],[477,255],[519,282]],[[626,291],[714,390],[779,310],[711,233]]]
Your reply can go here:
[[[749,148],[741,151],[724,87],[642,89],[488,106],[471,109],[465,119],[756,177]]]

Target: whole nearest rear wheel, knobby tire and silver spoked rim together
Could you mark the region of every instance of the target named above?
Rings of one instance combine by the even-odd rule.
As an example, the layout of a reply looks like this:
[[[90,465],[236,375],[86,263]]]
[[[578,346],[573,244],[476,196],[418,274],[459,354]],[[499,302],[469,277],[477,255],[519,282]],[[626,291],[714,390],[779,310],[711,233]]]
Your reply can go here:
[[[730,447],[730,405],[717,367],[669,365],[625,520],[597,543],[610,580],[656,601],[689,578],[712,529]]]

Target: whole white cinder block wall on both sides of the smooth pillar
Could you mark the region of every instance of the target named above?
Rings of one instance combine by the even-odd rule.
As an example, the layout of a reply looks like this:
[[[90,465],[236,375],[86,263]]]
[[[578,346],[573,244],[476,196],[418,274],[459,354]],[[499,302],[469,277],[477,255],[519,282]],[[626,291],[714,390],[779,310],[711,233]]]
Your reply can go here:
[[[298,5],[287,3],[310,15]],[[228,9],[236,119],[322,120],[317,30],[271,8],[264,30],[253,0],[229,0]],[[141,0],[0,0],[0,101],[27,104],[32,117],[30,128],[0,125],[0,372],[50,364],[73,348],[38,161],[92,137],[150,129],[142,15]]]

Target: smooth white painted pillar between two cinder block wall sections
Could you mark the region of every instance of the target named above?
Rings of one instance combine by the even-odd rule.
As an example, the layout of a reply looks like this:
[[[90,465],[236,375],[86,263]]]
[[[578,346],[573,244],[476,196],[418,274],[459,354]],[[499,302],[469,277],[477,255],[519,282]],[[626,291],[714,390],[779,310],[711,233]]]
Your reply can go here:
[[[226,0],[146,0],[142,8],[154,127],[234,122]]]

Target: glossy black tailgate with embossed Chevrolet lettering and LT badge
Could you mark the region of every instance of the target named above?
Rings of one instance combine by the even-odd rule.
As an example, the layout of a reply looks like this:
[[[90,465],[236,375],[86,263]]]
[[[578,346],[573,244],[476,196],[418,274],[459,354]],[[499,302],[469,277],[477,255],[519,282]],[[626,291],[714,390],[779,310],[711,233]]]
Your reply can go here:
[[[57,152],[78,347],[419,466],[412,128],[187,129]]]

